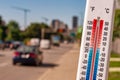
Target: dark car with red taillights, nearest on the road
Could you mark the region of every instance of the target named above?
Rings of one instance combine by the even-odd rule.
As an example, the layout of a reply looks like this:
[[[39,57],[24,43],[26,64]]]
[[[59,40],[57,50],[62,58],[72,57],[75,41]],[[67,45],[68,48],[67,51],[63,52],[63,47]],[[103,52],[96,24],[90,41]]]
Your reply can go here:
[[[42,64],[43,55],[35,46],[20,46],[15,52],[13,57],[13,65],[17,63],[33,64],[38,66]]]

